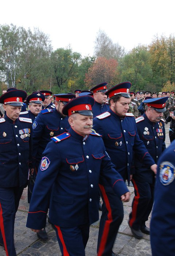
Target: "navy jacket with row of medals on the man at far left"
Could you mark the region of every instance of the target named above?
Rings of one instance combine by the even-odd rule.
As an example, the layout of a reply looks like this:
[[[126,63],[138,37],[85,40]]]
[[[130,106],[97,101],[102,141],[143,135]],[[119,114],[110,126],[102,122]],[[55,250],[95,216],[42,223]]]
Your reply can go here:
[[[26,184],[32,153],[32,120],[0,118],[0,187]]]

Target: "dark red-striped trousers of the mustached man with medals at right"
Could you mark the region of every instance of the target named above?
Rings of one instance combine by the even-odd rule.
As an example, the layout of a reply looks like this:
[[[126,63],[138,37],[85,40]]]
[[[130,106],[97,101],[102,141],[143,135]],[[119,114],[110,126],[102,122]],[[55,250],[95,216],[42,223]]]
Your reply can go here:
[[[153,206],[154,184],[138,182],[132,179],[135,197],[132,202],[132,212],[129,214],[129,225],[135,229],[145,227]]]

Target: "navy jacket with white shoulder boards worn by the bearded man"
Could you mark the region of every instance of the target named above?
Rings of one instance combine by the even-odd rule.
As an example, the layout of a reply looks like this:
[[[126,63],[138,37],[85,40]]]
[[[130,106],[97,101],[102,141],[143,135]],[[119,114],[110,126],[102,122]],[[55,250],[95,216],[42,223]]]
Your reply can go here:
[[[108,112],[93,119],[93,129],[102,135],[106,151],[116,170],[128,182],[133,164],[133,150],[148,167],[155,164],[139,138],[133,114],[127,113],[123,118],[109,108]]]

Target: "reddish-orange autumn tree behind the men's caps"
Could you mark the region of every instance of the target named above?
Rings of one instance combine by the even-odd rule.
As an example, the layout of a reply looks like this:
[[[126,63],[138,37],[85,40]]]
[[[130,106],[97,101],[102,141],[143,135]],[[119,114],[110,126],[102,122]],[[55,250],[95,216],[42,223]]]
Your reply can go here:
[[[99,57],[86,73],[86,86],[92,87],[94,84],[99,84],[102,82],[108,82],[110,85],[114,85],[116,83],[117,65],[117,60],[107,60],[104,57]]]

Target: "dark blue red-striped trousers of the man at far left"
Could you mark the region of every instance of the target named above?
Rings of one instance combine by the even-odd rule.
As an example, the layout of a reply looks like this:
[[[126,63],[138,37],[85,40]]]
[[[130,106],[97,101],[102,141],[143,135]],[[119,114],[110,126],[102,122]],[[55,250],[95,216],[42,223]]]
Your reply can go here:
[[[0,188],[0,243],[4,244],[8,256],[16,256],[13,238],[15,214],[24,187]]]

